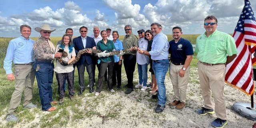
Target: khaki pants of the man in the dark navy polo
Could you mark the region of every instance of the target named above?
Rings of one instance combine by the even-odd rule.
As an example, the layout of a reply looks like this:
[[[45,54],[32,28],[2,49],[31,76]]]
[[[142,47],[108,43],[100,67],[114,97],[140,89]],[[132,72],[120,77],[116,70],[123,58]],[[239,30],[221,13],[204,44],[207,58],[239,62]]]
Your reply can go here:
[[[186,73],[184,77],[180,77],[179,71],[182,70],[184,65],[174,65],[170,63],[169,75],[172,81],[172,86],[174,90],[175,100],[186,103],[186,92],[188,86],[188,78],[189,78],[189,69],[190,66],[186,69]]]

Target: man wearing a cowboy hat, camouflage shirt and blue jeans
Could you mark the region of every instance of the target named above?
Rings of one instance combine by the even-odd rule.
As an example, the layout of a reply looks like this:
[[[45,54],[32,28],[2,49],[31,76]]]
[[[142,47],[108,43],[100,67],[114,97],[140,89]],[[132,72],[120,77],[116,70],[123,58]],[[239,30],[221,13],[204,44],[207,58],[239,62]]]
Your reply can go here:
[[[54,111],[55,107],[52,104],[57,104],[56,101],[52,100],[52,81],[54,73],[54,58],[61,57],[62,54],[57,52],[55,54],[55,47],[50,41],[51,30],[48,24],[44,24],[41,28],[36,27],[36,32],[40,32],[40,37],[36,40],[33,45],[35,64],[34,69],[36,70],[36,80],[38,83],[39,96],[42,104],[43,111]]]

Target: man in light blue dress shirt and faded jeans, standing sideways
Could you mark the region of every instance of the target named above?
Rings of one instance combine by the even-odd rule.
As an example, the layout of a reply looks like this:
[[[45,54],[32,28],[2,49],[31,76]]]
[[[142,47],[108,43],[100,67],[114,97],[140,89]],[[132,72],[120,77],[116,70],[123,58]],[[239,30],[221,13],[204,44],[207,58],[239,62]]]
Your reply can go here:
[[[154,35],[152,42],[152,49],[150,52],[144,52],[144,55],[150,55],[153,60],[153,70],[156,76],[156,83],[158,86],[158,105],[155,109],[155,112],[163,112],[166,104],[166,90],[164,79],[166,72],[169,69],[169,60],[168,60],[168,49],[169,43],[161,30],[160,24],[152,23],[151,32]]]

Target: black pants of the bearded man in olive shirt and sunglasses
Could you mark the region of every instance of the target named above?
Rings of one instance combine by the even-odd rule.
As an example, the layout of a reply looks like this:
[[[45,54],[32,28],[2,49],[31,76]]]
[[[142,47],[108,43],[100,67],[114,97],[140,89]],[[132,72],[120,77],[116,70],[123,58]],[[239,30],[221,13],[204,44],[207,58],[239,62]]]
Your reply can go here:
[[[124,59],[124,69],[125,69],[126,77],[128,81],[127,87],[133,88],[133,73],[136,65],[136,56],[132,54],[124,54],[123,59]]]

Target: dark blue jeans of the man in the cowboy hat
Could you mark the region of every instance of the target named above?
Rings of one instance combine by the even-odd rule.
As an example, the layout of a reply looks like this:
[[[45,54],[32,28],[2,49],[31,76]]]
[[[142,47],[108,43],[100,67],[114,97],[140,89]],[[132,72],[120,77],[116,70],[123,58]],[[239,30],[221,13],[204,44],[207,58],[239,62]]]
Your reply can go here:
[[[50,62],[38,62],[34,63],[34,69],[36,70],[36,80],[38,84],[40,101],[42,104],[42,110],[47,111],[52,107],[52,82],[53,82],[53,69],[54,64]]]

